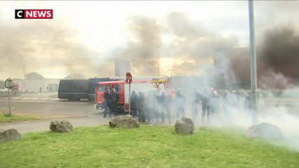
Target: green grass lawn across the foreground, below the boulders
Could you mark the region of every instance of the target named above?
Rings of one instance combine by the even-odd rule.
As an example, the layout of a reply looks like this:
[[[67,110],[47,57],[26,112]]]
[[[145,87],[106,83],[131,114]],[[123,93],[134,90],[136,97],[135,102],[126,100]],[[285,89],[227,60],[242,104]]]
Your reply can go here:
[[[0,167],[298,167],[299,153],[240,130],[173,127],[78,127],[72,132],[23,134],[0,144]]]

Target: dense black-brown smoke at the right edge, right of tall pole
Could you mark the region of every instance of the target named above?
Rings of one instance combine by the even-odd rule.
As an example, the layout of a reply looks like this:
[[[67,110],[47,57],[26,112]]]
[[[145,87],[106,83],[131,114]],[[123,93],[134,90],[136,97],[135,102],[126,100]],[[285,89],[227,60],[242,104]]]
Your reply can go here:
[[[265,87],[293,87],[299,76],[299,35],[295,27],[282,26],[265,32],[260,45],[260,85]],[[276,81],[276,83],[273,83]]]

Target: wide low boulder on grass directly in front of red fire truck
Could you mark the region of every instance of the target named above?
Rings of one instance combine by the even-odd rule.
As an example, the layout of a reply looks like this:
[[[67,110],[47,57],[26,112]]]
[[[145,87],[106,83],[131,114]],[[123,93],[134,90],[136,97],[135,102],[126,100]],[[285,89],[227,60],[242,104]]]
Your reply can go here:
[[[140,124],[132,116],[115,116],[109,121],[110,127],[132,128],[139,127]]]

